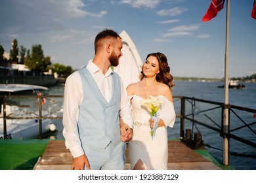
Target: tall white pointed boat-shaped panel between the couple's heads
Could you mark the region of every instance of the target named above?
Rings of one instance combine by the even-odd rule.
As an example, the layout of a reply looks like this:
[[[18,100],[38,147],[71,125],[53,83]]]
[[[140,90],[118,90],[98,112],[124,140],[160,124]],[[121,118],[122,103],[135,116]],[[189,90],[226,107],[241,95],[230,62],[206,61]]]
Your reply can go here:
[[[123,56],[119,59],[119,65],[114,67],[114,71],[121,77],[126,88],[129,84],[139,81],[142,61],[131,37],[125,31],[119,35],[123,43]]]

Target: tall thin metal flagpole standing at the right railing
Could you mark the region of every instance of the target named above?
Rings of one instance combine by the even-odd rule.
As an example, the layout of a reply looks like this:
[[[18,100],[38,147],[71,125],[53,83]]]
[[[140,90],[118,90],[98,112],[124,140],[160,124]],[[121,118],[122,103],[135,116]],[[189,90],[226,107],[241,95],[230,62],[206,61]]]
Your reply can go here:
[[[223,122],[223,164],[229,165],[229,137],[226,136],[229,131],[229,108],[228,103],[228,41],[229,41],[229,14],[230,14],[230,0],[226,0],[226,50],[225,50],[225,69],[224,69],[224,122]]]

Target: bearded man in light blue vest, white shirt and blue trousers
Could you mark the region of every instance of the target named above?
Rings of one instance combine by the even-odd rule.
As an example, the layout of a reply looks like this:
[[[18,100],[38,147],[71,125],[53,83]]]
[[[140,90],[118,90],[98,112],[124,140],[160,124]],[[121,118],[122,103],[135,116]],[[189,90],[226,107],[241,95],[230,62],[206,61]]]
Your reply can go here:
[[[93,60],[66,79],[63,135],[74,157],[71,169],[124,169],[124,142],[133,134],[131,105],[110,68],[119,64],[122,46],[115,31],[101,31],[95,37]]]

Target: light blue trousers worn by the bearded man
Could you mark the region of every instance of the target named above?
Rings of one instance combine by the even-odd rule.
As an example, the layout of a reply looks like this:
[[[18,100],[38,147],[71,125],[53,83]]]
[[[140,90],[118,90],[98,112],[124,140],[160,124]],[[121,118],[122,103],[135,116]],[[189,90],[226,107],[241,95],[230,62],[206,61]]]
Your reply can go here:
[[[84,151],[91,170],[123,170],[125,167],[125,148],[124,142],[120,142],[116,146],[110,142],[104,149],[87,146]]]

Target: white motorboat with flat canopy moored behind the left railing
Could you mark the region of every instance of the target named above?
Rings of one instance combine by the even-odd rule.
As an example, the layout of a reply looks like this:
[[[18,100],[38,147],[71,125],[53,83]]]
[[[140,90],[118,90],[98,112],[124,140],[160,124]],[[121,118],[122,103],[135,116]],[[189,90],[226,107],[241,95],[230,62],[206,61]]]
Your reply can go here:
[[[29,84],[0,84],[0,95],[41,95],[41,90],[48,90],[48,88],[43,86],[35,86]],[[1,99],[1,98],[0,98]],[[2,98],[3,99],[3,98]],[[36,98],[26,98],[25,100],[30,100],[31,103],[36,101]],[[4,139],[4,110],[3,101],[1,102],[1,115],[0,115],[0,139]],[[5,115],[14,118],[23,119],[7,119],[6,129],[7,129],[7,139],[32,139],[39,137],[39,110],[35,109],[35,106],[20,106],[18,104],[7,104],[5,105]],[[29,111],[32,110],[32,111]],[[49,111],[42,110],[41,116],[49,115]],[[51,114],[51,117],[54,117]],[[30,119],[28,119],[30,118]],[[42,124],[42,134],[48,131],[54,131],[56,129],[56,122],[58,120],[43,119]]]

